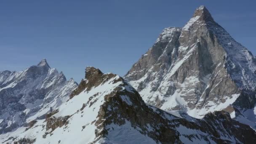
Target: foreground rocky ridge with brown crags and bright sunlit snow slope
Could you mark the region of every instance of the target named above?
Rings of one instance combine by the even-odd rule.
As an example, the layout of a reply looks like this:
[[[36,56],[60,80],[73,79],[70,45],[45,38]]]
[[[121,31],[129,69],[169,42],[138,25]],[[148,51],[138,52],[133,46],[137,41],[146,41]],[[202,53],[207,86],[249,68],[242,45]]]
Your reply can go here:
[[[85,79],[67,101],[43,119],[27,121],[0,135],[14,144],[182,144],[253,143],[256,131],[230,118],[209,113],[203,119],[174,115],[144,103],[122,77],[87,67]]]

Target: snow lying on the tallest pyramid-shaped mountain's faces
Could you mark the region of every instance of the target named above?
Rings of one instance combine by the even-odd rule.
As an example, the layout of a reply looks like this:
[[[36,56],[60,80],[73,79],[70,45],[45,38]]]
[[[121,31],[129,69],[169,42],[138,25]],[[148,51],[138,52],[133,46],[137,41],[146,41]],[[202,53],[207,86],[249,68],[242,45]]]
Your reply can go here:
[[[201,12],[204,8],[204,6],[200,6],[196,11]],[[202,13],[203,12],[204,11],[202,11]],[[169,40],[169,43],[163,49],[157,62],[150,67],[142,67],[138,69],[138,71],[133,71],[126,76],[129,79],[136,77],[136,80],[132,79],[128,83],[139,90],[142,99],[148,104],[159,106],[158,102],[161,101],[161,105],[159,106],[161,109],[169,111],[178,107],[179,109],[185,110],[193,117],[202,118],[208,112],[222,110],[232,105],[240,96],[236,91],[230,92],[227,95],[217,95],[213,93],[213,91],[216,91],[216,88],[219,88],[220,84],[224,83],[226,78],[231,79],[240,90],[255,91],[255,57],[240,43],[237,43],[229,33],[218,24],[215,24],[213,21],[199,21],[199,19],[200,16],[192,17],[182,28],[181,35],[179,35],[179,40],[177,41],[180,44],[178,47],[176,47],[176,45],[170,47],[170,44],[173,43],[171,40],[174,28],[165,28],[157,39],[157,42],[165,37]],[[190,31],[192,27],[195,33],[186,32]],[[197,31],[197,28],[205,31]],[[221,48],[221,54],[223,54],[224,59],[221,60],[222,58],[220,58],[220,61],[216,61],[216,64],[214,64],[216,71],[209,74],[206,73],[204,75],[204,72],[200,72],[200,69],[198,70],[197,67],[195,67],[195,69],[190,69],[189,72],[184,72],[184,75],[179,75],[179,69],[181,67],[183,68],[185,63],[188,64],[192,60],[195,60],[191,56],[197,55],[198,51],[196,50],[200,49],[200,47],[197,48],[197,46],[204,43],[202,38],[197,37],[197,33],[200,32],[203,35],[208,35],[208,31],[213,32],[216,38],[214,42],[218,43],[218,48]],[[184,36],[188,36],[188,39],[184,39]],[[193,43],[191,43],[191,41],[193,41]],[[150,48],[150,51],[152,51],[152,48]],[[211,54],[216,53],[215,50],[209,52]],[[171,56],[167,56],[168,54]],[[200,65],[199,67],[202,66]],[[186,69],[186,67],[184,67],[184,69]],[[227,72],[227,75],[222,77],[220,75],[223,72]],[[176,74],[178,74],[179,77],[176,77]],[[140,79],[137,80],[137,77],[140,77]],[[182,79],[182,82],[178,82],[178,80],[175,79]],[[207,95],[205,96],[206,92],[215,95],[215,98],[208,100]],[[188,105],[192,104],[195,105],[195,107],[199,106],[200,109],[197,109],[198,107],[189,108]],[[248,117],[248,120],[256,122],[256,120],[254,120],[256,119],[256,115],[254,115],[252,111],[248,111],[248,114],[245,115],[245,118]],[[231,116],[235,117],[235,113],[232,113]]]

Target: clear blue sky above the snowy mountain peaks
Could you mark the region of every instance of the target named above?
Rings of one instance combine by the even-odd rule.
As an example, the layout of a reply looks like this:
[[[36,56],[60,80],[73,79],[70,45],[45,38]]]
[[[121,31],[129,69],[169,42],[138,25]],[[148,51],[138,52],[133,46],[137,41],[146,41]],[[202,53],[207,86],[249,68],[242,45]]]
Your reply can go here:
[[[86,66],[125,75],[165,27],[200,5],[256,55],[254,0],[1,0],[0,71],[46,58],[77,82]]]

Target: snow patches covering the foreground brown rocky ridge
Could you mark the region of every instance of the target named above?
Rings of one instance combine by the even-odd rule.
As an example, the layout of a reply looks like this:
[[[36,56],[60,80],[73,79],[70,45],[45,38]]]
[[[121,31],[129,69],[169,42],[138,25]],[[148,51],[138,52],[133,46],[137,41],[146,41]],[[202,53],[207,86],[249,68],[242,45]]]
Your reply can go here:
[[[45,134],[45,132],[50,132],[51,130],[46,131],[46,129],[42,127],[42,125],[46,125],[45,120],[37,120],[37,123],[27,131],[24,131],[25,128],[21,127],[16,129],[16,131],[0,135],[0,142],[11,136],[17,139],[36,139],[35,144],[58,144],[59,140],[61,140],[61,144],[85,144],[93,142],[96,139],[95,131],[101,131],[97,129],[95,120],[98,120],[99,118],[98,112],[101,108],[101,105],[105,102],[104,97],[119,87],[125,89],[127,88],[127,91],[134,93],[134,89],[130,85],[123,86],[123,81],[116,82],[118,79],[120,79],[120,77],[115,76],[107,82],[102,83],[97,87],[91,88],[90,91],[85,89],[77,96],[69,99],[69,101],[65,101],[59,107],[56,107],[59,112],[57,112],[54,117],[64,117],[67,115],[70,115],[71,117],[68,119],[68,125],[64,125],[61,128],[56,128],[51,133],[51,135],[48,134],[46,138],[43,138],[42,136]],[[129,106],[133,105],[131,99],[128,96],[121,95],[120,98]],[[93,104],[91,106],[88,104],[83,110],[80,110],[83,104],[87,103],[87,101],[93,101]],[[26,111],[27,109],[25,112]],[[41,114],[43,113],[44,112]],[[168,116],[168,118],[171,118],[171,116]],[[31,117],[30,120],[32,120]],[[127,120],[125,120],[125,124],[123,125],[115,125],[112,123],[110,125],[106,125],[105,127],[111,128],[108,131],[107,138],[101,138],[96,143],[156,143],[149,136],[141,134],[141,129],[134,128]],[[150,127],[150,125],[147,125],[147,128],[148,131],[154,130],[152,127]],[[71,134],[73,136],[71,136]],[[11,140],[9,140],[9,142],[11,142]]]

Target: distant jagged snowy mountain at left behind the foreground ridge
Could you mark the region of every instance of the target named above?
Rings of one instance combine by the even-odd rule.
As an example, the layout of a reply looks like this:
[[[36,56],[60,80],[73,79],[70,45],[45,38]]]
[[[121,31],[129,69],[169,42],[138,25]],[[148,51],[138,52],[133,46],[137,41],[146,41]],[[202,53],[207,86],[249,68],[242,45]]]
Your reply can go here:
[[[44,115],[69,99],[77,88],[62,72],[43,59],[36,66],[20,72],[0,72],[0,133],[7,133],[42,119]]]

